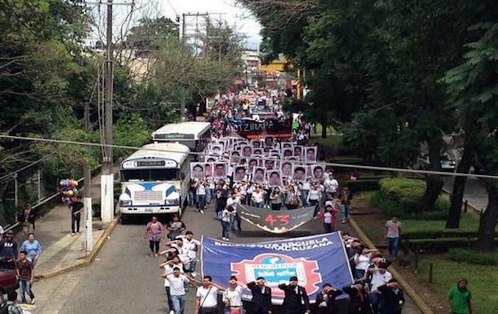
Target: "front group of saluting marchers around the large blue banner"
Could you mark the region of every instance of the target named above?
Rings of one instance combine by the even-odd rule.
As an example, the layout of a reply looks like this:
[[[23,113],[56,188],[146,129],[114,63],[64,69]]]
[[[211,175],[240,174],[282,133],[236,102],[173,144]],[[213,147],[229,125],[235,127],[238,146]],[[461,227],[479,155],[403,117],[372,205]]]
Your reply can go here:
[[[227,204],[226,207],[228,206],[231,205]],[[165,226],[153,217],[145,232],[151,244],[151,255],[165,258],[164,262],[159,263],[159,268],[164,269],[161,277],[164,278],[170,314],[184,313],[186,293],[190,288],[196,288],[196,314],[218,313],[219,308],[223,308],[226,314],[272,313],[272,290],[266,286],[263,277],[247,284],[238,282],[237,277],[230,274],[227,274],[226,283],[214,283],[207,274],[202,279],[197,278],[196,267],[201,242],[194,239],[192,231],[186,230],[186,225],[179,216],[174,216]],[[165,249],[161,250],[159,241],[164,236],[169,241],[164,244]],[[351,263],[354,283],[345,287],[324,283],[315,305],[312,306],[306,289],[298,285],[296,276],[292,276],[288,283],[278,286],[285,292],[283,312],[401,314],[405,298],[398,281],[388,271],[391,261],[346,232],[342,234],[342,241]],[[251,291],[251,301],[243,301],[245,289]],[[221,298],[218,298],[218,294]]]

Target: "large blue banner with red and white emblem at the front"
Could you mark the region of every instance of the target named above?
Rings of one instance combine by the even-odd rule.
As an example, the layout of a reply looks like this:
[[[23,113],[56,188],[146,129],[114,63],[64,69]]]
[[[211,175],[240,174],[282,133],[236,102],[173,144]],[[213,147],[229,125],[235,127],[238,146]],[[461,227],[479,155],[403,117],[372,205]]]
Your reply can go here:
[[[255,244],[235,244],[203,236],[202,273],[226,285],[231,275],[244,285],[265,277],[272,289],[272,303],[282,304],[284,293],[277,286],[297,276],[314,302],[324,283],[342,288],[353,283],[341,234],[319,234]],[[250,300],[248,289],[243,298]]]

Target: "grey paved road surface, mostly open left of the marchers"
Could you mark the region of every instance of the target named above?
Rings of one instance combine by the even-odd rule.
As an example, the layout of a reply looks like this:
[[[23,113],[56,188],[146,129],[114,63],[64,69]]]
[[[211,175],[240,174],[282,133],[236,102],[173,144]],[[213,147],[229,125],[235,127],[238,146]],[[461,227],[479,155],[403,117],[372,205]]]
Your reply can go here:
[[[189,209],[184,214],[184,222],[197,239],[201,234],[221,236],[221,226],[212,209],[205,214]],[[147,242],[142,238],[143,226],[118,225],[91,266],[37,283],[35,293],[38,289],[51,296],[46,304],[38,305],[40,310],[36,313],[167,313],[163,281],[159,278],[161,271],[157,268],[160,260],[149,256]],[[348,226],[341,229],[350,231]],[[244,222],[243,230],[231,240],[247,243],[277,239]],[[319,232],[322,232],[319,221],[311,221],[292,231],[291,236]],[[192,289],[187,297],[186,313],[194,313]],[[409,300],[403,313],[419,314],[420,311]]]

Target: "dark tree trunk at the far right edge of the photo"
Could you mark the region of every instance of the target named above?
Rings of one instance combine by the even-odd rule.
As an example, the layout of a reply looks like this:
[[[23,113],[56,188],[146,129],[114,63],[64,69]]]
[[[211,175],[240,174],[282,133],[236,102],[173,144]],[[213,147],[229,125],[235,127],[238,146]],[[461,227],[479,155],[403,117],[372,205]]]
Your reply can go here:
[[[477,239],[477,251],[494,251],[494,229],[498,219],[498,189],[494,182],[486,182],[487,207],[482,213],[479,221],[479,238]]]

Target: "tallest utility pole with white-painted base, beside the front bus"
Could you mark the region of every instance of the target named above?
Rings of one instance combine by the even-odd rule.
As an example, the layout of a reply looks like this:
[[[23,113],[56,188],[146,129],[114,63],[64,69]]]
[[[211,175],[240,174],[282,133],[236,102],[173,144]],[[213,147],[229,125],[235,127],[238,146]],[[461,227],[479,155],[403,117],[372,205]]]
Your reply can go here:
[[[102,223],[109,223],[114,218],[114,174],[112,171],[112,0],[107,0],[107,56],[105,61],[105,110],[104,110],[104,156],[102,158],[102,175],[100,176],[100,217]]]

